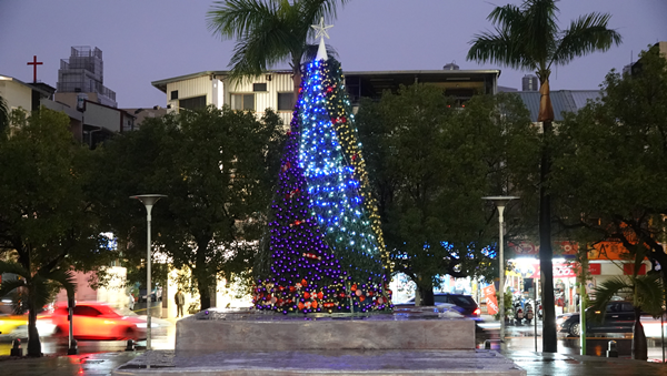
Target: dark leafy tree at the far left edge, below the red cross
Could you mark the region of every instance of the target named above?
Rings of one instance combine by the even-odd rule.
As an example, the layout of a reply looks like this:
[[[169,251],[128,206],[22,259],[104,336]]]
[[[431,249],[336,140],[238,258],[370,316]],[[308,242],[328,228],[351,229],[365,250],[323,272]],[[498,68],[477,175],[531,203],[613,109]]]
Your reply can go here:
[[[41,109],[30,116],[13,111],[12,135],[0,136],[0,295],[22,294],[28,309],[28,355],[40,356],[37,314],[49,298],[51,283],[73,294],[71,268],[90,271],[113,257],[96,230],[83,186],[86,161],[92,153],[77,144],[69,118]]]

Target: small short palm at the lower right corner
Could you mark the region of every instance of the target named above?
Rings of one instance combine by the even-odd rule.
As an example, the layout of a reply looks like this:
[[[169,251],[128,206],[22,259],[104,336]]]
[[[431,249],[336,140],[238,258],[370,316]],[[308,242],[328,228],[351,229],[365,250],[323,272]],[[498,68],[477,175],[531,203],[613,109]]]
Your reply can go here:
[[[635,306],[635,325],[633,327],[633,358],[647,360],[648,346],[644,325],[639,321],[643,312],[654,317],[663,314],[663,280],[659,273],[648,275],[624,275],[603,282],[595,288],[593,308],[605,317],[607,303],[619,294],[631,294]]]

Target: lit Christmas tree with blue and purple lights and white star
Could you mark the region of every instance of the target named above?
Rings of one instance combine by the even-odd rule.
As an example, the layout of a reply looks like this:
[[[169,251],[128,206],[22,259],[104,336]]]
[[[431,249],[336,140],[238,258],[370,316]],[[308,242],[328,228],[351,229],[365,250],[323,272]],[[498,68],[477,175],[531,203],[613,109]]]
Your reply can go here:
[[[350,313],[391,309],[385,251],[340,64],[305,65],[299,99],[256,266],[258,309]]]

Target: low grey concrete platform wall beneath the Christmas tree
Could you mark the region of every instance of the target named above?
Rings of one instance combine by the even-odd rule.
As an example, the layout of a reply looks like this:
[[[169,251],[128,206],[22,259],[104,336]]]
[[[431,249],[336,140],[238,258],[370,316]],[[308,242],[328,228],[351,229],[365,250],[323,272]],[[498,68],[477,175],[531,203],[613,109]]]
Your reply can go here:
[[[221,321],[176,324],[176,353],[308,349],[475,349],[468,319]]]

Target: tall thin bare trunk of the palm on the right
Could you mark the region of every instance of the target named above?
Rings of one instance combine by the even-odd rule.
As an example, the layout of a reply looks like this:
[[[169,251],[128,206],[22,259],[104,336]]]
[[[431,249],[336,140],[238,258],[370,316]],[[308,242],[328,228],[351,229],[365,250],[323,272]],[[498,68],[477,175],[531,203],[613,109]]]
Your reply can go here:
[[[558,352],[558,337],[556,334],[556,307],[554,302],[554,250],[551,248],[551,195],[547,191],[547,182],[551,172],[550,140],[554,121],[554,109],[549,98],[549,71],[538,71],[540,81],[539,115],[537,121],[542,122],[542,152],[539,171],[539,266],[541,270],[542,285],[542,350],[545,353]]]

